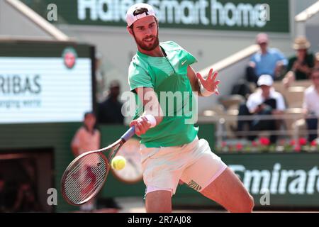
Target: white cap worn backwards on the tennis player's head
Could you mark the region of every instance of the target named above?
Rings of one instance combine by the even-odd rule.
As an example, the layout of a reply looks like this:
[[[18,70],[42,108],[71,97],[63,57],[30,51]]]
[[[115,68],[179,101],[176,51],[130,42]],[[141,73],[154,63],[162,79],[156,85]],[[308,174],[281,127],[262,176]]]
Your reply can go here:
[[[145,9],[144,13],[134,15],[135,10],[143,8]],[[147,16],[154,16],[155,18],[157,18],[155,15],[155,11],[151,5],[145,3],[138,3],[133,6],[130,6],[130,9],[128,9],[128,12],[126,13],[126,23],[128,23],[128,26],[131,26],[135,21],[138,21],[138,19]]]

